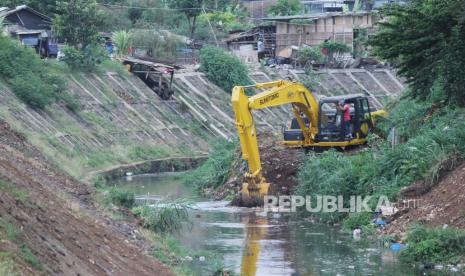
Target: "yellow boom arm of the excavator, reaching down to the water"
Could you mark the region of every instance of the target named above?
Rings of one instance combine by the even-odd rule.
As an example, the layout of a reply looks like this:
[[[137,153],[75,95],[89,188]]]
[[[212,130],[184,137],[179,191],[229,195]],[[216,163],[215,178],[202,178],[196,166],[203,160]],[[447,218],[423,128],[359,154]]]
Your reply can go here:
[[[269,88],[252,97],[245,94],[246,88]],[[267,193],[268,184],[262,176],[262,166],[257,142],[257,132],[252,110],[267,107],[292,104],[294,115],[299,122],[306,140],[312,140],[318,133],[318,102],[314,95],[301,83],[289,81],[274,81],[258,83],[252,86],[236,86],[233,88],[231,102],[236,116],[236,127],[242,149],[242,157],[249,165],[246,174],[247,189],[251,196]],[[301,115],[308,118],[307,126]],[[248,190],[248,191],[246,191]]]

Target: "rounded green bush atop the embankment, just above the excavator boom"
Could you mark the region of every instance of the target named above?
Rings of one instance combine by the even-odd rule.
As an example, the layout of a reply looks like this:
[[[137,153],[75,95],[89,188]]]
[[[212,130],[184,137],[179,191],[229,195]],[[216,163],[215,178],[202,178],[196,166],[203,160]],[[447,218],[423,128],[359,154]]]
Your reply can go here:
[[[200,51],[200,64],[207,78],[228,93],[236,85],[251,84],[247,67],[221,48],[204,46]]]

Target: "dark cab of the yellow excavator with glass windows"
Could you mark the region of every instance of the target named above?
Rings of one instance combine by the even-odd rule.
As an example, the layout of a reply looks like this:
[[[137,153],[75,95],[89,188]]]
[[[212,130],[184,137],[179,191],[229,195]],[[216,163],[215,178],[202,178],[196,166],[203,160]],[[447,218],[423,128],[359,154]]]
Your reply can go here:
[[[345,142],[343,114],[337,108],[339,101],[344,100],[350,106],[350,133],[352,139],[366,138],[373,127],[371,109],[368,99],[361,94],[322,98],[318,109],[318,133],[315,142]],[[302,118],[307,127],[310,122]],[[295,145],[304,140],[304,135],[296,118],[292,119],[290,127],[283,132],[284,144]]]

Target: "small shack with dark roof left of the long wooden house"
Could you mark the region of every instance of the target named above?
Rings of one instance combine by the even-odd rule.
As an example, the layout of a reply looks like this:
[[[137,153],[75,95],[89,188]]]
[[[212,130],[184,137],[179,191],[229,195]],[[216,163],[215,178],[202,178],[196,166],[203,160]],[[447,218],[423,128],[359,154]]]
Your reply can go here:
[[[275,55],[276,26],[266,25],[254,27],[246,32],[235,33],[226,39],[226,45],[230,52],[234,53],[243,62],[257,62],[257,43],[261,39],[265,45],[265,57]]]

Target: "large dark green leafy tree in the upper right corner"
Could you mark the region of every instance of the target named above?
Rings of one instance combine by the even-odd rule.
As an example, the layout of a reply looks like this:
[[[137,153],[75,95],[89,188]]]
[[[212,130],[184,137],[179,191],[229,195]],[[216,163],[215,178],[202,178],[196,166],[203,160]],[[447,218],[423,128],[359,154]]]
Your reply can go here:
[[[382,10],[389,20],[369,43],[394,61],[416,97],[439,84],[449,101],[465,105],[465,0],[411,0]]]

